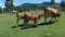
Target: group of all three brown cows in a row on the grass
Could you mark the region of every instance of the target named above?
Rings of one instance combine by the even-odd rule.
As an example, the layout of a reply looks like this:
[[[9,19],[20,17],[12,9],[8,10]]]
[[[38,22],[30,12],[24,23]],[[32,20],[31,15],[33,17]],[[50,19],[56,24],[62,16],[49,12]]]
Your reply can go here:
[[[44,12],[41,13],[41,14],[36,14],[36,13],[17,13],[17,11],[13,11],[13,13],[16,14],[17,26],[18,26],[18,21],[20,20],[24,20],[24,25],[28,26],[29,20],[34,21],[34,25],[37,25],[37,21],[40,17],[44,17],[44,23],[46,23],[48,17],[51,17],[50,22],[52,22],[52,20],[56,20],[56,17],[61,16],[60,10],[54,9],[54,8],[50,8],[50,7],[44,7]]]

